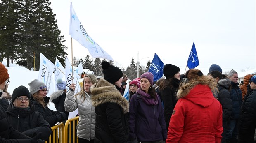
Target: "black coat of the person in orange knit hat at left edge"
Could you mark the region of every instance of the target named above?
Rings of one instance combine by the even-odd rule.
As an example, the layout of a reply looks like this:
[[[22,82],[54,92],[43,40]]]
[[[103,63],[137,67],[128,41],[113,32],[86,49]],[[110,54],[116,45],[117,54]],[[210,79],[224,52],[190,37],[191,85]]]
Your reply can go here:
[[[0,92],[1,95],[2,92]],[[19,138],[23,139],[19,140]],[[5,109],[0,105],[0,143],[30,143],[29,138],[10,125]]]

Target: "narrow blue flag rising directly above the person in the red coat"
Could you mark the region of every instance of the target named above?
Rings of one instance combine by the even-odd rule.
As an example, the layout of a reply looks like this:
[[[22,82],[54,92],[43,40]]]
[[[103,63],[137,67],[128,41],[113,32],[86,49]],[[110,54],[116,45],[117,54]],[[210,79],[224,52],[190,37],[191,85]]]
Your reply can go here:
[[[196,47],[194,46],[194,42],[193,42],[193,46],[191,48],[190,55],[187,59],[187,67],[189,69],[193,69],[193,68],[197,67],[198,65],[199,65],[199,60],[197,57],[197,50],[196,50]]]

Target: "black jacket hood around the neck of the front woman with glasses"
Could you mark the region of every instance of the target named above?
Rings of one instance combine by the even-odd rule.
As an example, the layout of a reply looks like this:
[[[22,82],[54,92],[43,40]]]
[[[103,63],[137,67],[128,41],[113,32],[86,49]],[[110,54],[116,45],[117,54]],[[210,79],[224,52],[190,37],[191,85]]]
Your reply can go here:
[[[26,117],[34,111],[35,105],[32,101],[30,101],[28,108],[16,108],[13,104],[9,104],[6,112],[14,117],[17,117],[17,115],[20,115],[21,117]]]

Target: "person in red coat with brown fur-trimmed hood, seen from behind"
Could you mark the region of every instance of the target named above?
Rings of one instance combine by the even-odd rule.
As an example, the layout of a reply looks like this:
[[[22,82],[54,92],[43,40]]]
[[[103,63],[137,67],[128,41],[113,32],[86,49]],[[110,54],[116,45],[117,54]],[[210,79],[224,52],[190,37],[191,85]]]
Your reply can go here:
[[[216,81],[189,69],[177,92],[166,143],[220,143],[222,107],[213,97]]]

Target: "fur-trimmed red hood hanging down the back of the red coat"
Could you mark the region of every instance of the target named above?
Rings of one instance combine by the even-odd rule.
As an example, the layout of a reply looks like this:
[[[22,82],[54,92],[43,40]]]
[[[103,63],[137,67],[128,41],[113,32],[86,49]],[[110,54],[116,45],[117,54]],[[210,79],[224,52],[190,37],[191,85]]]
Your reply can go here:
[[[177,92],[177,98],[184,98],[204,108],[209,107],[215,100],[211,91],[214,88],[212,80],[199,80],[183,83]]]

